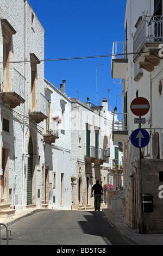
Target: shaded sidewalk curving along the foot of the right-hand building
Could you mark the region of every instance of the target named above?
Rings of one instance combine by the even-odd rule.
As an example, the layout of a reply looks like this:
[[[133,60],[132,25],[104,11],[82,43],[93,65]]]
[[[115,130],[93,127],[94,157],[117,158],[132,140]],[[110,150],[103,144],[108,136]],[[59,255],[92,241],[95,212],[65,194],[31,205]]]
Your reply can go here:
[[[131,245],[163,245],[163,234],[137,234],[126,223],[121,211],[102,210],[108,221]]]

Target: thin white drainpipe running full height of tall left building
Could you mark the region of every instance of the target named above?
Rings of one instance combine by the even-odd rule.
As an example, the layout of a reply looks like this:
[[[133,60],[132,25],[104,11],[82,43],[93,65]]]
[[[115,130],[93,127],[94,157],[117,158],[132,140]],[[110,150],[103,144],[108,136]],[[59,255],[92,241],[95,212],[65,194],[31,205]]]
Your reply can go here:
[[[24,84],[24,99],[26,99],[26,86],[27,86],[27,76],[26,76],[26,60],[27,60],[27,26],[26,26],[26,17],[27,17],[27,0],[24,0],[24,78],[26,78],[26,82]],[[24,172],[25,172],[25,156],[26,156],[26,107],[24,103],[24,116],[23,116],[23,154],[22,154],[22,210],[24,205]]]

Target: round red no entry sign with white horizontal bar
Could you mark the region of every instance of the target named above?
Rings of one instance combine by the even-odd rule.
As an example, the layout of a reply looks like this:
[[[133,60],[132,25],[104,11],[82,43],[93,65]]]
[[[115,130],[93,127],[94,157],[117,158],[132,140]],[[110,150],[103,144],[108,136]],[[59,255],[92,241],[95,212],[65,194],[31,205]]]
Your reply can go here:
[[[134,115],[141,117],[142,115],[146,115],[148,113],[150,104],[146,98],[137,97],[131,102],[130,108]]]

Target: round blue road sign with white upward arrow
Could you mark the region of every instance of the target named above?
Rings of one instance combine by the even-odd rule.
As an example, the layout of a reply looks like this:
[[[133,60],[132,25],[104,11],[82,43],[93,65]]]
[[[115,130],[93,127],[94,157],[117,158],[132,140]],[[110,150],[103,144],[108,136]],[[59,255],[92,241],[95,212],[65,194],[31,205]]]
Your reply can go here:
[[[136,129],[131,133],[131,143],[136,148],[144,148],[148,145],[150,141],[149,133],[144,129]]]

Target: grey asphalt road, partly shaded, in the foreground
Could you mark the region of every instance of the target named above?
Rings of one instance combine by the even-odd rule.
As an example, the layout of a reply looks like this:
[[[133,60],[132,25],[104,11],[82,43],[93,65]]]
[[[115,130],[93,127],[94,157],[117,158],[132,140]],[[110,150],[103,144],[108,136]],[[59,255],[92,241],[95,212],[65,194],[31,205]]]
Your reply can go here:
[[[107,246],[128,245],[98,211],[41,211],[8,227],[9,245]],[[6,245],[1,230],[1,245]]]

